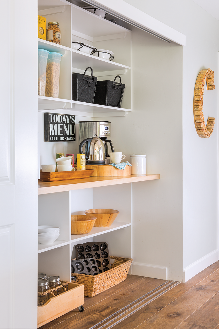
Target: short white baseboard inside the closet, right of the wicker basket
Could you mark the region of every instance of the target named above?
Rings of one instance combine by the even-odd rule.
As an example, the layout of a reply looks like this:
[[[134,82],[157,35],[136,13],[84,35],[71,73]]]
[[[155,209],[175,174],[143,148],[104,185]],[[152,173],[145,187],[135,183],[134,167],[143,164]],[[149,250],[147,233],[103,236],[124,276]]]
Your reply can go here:
[[[164,266],[139,264],[132,262],[131,270],[133,275],[141,275],[147,276],[149,278],[166,280],[166,267]]]

